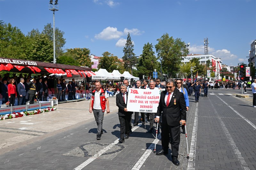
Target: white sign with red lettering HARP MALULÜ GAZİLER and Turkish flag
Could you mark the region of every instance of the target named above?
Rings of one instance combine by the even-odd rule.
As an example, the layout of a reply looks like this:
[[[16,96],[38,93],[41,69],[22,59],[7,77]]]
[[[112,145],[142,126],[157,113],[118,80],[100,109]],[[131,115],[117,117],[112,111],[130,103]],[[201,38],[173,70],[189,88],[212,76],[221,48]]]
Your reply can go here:
[[[160,100],[159,89],[132,89],[129,88],[127,110],[135,112],[156,113]]]

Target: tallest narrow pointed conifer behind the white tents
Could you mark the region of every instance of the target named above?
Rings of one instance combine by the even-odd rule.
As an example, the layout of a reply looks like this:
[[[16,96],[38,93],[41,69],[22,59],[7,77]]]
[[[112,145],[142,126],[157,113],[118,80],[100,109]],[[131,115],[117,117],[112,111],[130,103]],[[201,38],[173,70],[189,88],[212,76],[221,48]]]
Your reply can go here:
[[[124,56],[122,57],[124,61],[124,69],[126,71],[131,70],[132,74],[132,66],[135,65],[137,58],[135,57],[135,54],[133,53],[133,44],[132,39],[130,36],[130,33],[128,32],[126,44],[123,49]]]

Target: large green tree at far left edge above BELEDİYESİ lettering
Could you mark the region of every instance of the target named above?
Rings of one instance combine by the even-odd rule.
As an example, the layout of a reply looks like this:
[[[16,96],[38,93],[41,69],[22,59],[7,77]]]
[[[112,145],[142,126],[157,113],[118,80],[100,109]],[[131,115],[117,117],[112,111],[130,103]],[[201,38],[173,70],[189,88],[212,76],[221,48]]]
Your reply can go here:
[[[0,56],[6,58],[26,59],[27,39],[18,27],[1,21]]]

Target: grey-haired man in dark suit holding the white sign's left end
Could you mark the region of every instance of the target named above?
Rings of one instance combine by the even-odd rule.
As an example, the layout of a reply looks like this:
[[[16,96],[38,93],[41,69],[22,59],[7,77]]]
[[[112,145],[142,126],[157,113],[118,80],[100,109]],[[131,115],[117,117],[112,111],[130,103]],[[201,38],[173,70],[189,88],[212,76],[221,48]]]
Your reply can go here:
[[[118,107],[118,117],[120,121],[120,143],[124,142],[124,139],[128,139],[130,135],[130,121],[132,112],[127,110],[128,92],[126,92],[126,85],[120,86],[120,93],[116,95],[116,105]],[[124,138],[125,134],[125,138]]]

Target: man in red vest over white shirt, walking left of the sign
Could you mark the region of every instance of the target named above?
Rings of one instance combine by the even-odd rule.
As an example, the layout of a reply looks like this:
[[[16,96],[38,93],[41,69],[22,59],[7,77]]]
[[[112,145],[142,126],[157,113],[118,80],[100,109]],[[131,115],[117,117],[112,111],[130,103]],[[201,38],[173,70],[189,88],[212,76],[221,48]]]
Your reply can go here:
[[[109,113],[109,103],[108,103],[108,94],[101,88],[100,81],[95,82],[96,89],[92,91],[92,99],[90,102],[89,112],[94,114],[95,121],[98,125],[97,140],[100,140],[102,131],[102,123],[104,112],[106,110],[107,104],[107,113]]]

